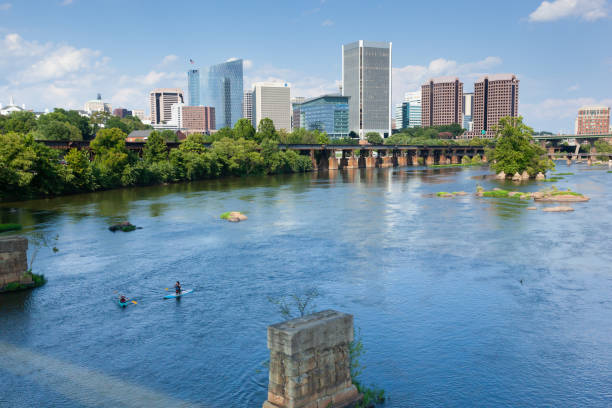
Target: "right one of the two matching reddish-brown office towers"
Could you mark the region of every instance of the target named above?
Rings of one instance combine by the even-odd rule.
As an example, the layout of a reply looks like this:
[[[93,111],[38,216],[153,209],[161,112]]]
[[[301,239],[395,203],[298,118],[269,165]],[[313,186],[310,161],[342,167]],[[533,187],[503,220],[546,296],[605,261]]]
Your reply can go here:
[[[474,83],[474,135],[493,137],[501,118],[518,116],[518,88],[513,74],[485,75]]]

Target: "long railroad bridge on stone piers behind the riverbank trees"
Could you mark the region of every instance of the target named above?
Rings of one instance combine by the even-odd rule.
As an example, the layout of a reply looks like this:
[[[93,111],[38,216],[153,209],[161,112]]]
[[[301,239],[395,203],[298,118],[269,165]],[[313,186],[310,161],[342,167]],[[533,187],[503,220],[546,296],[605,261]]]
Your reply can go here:
[[[89,142],[86,141],[40,142],[58,150],[89,150]],[[126,142],[125,146],[140,154],[145,143]],[[167,146],[168,149],[175,149],[180,146],[180,142],[168,142]],[[471,160],[476,155],[487,162],[484,146],[279,144],[278,148],[310,156],[315,170],[459,164],[463,157]],[[341,157],[337,157],[337,152]]]

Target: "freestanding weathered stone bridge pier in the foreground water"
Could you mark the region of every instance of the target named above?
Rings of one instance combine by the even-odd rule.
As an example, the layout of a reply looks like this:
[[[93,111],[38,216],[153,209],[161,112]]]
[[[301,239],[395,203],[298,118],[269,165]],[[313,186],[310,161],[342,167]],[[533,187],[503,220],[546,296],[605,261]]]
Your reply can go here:
[[[334,310],[269,326],[263,408],[344,408],[360,401],[351,380],[351,341],[353,316]]]

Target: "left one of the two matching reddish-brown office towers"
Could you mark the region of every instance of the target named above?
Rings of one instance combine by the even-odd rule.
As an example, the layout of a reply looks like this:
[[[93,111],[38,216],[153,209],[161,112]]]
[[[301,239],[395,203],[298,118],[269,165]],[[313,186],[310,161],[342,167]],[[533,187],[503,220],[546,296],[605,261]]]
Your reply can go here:
[[[462,123],[463,82],[457,77],[432,78],[421,86],[421,126]]]

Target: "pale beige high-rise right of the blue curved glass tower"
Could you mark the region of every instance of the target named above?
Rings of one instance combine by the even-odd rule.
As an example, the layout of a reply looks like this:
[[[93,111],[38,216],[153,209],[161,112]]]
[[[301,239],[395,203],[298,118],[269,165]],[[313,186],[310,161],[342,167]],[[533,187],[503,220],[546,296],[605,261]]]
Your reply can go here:
[[[291,131],[291,87],[282,82],[253,84],[253,126],[263,118],[272,119],[276,130]]]

